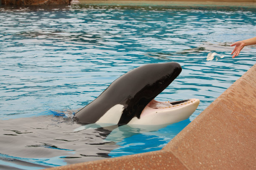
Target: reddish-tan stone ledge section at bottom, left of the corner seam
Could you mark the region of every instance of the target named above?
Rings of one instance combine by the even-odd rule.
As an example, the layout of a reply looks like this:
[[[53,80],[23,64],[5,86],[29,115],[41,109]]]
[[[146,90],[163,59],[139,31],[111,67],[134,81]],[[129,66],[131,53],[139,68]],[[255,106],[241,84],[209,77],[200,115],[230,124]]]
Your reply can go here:
[[[155,151],[84,162],[49,170],[187,170],[187,167],[169,151]]]

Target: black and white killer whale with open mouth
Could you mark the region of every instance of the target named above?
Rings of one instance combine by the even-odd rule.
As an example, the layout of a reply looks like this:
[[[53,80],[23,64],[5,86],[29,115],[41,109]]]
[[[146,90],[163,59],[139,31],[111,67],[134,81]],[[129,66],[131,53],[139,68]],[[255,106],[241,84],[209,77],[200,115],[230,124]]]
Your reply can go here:
[[[179,76],[179,63],[151,63],[128,71],[113,81],[74,120],[83,124],[172,124],[187,119],[199,99],[159,102],[154,98]]]

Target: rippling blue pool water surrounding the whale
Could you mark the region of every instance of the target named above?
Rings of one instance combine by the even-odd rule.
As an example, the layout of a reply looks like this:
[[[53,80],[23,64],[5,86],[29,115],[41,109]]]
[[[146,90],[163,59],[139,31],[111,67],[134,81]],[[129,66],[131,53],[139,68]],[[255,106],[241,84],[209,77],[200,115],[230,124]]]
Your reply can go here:
[[[255,46],[234,59],[229,47],[254,37],[255,21],[255,8],[0,7],[0,169],[160,150],[256,63]],[[213,52],[215,58],[206,61]],[[156,99],[200,99],[189,119],[110,138],[106,129],[75,131],[81,125],[63,116],[89,104],[125,72],[172,61],[182,73]]]

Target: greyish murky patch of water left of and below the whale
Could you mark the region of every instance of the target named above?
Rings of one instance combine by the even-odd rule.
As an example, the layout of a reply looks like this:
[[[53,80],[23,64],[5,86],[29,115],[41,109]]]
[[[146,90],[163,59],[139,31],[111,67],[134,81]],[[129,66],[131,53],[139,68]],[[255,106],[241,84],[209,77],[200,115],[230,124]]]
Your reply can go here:
[[[0,165],[7,165],[3,169],[8,165],[42,169],[103,159],[118,147],[104,140],[108,130],[75,132],[81,125],[64,117],[27,117],[1,120],[0,124]]]

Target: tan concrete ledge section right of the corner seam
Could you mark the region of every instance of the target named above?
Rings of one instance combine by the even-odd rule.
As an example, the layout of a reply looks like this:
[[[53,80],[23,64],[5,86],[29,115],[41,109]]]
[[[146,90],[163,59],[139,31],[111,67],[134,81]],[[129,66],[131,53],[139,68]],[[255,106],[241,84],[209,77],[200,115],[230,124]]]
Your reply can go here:
[[[256,64],[163,150],[191,170],[255,170]]]

